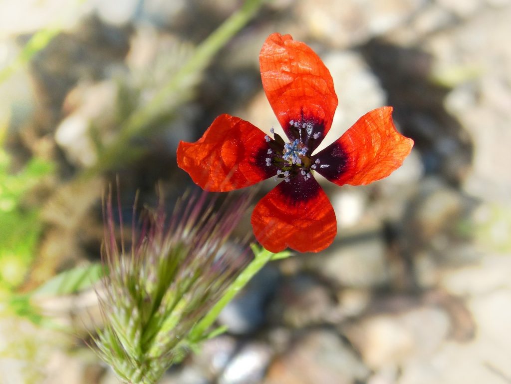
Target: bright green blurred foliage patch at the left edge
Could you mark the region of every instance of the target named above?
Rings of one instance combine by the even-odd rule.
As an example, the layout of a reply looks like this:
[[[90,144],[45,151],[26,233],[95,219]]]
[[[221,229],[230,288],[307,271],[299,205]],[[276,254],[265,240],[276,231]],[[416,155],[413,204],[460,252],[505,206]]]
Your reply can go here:
[[[0,295],[22,282],[34,258],[41,223],[38,210],[26,207],[24,198],[53,170],[36,158],[16,174],[9,166],[9,155],[0,149]]]

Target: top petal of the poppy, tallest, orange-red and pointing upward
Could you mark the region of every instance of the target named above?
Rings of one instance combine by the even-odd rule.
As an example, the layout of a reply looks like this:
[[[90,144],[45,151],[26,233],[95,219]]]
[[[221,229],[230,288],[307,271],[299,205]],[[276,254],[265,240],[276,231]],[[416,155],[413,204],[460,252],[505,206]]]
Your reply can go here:
[[[337,96],[329,70],[305,43],[271,34],[259,55],[264,92],[288,138],[293,124],[307,126],[302,142],[313,151],[330,130]],[[317,140],[308,143],[316,134]]]

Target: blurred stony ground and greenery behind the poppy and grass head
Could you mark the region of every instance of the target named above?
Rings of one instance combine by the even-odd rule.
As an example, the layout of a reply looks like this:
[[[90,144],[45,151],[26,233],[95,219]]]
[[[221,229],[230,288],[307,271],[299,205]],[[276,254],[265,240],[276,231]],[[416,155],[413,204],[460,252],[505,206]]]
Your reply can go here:
[[[0,382],[118,382],[86,345],[94,290],[31,297],[42,316],[24,294],[100,259],[116,175],[127,212],[158,181],[171,207],[179,140],[222,113],[278,126],[272,32],[331,71],[326,143],[391,105],[415,146],[369,186],[321,180],[334,244],[264,268],[162,383],[511,382],[509,20],[509,0],[0,0]]]

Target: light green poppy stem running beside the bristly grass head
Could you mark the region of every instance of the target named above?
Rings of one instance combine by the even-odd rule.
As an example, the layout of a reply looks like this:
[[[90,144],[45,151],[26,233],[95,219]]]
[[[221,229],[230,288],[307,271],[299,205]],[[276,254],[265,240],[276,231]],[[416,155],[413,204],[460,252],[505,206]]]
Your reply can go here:
[[[270,261],[275,255],[270,251],[265,250],[264,248],[261,248],[261,250],[258,251],[255,247],[252,247],[252,250],[254,250],[255,254],[254,259],[245,267],[243,272],[238,276],[233,284],[231,284],[231,286],[227,289],[227,291],[215,304],[215,306],[205,315],[205,317],[200,322],[195,325],[189,334],[189,342],[196,343],[201,340],[204,332],[213,325],[215,320],[217,320],[218,315],[227,305],[227,303],[233,300],[237,293],[243,289],[243,287],[250,281],[250,279],[255,274],[257,274],[261,268],[264,267],[266,263]]]

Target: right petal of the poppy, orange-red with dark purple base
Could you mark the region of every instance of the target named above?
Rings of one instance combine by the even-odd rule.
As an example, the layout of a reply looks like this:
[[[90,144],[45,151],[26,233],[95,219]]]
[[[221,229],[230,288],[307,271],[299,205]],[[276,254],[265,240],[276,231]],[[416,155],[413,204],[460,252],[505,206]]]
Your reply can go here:
[[[339,140],[312,159],[316,171],[337,185],[365,185],[388,176],[408,156],[413,140],[404,137],[392,122],[392,107],[362,116]]]

